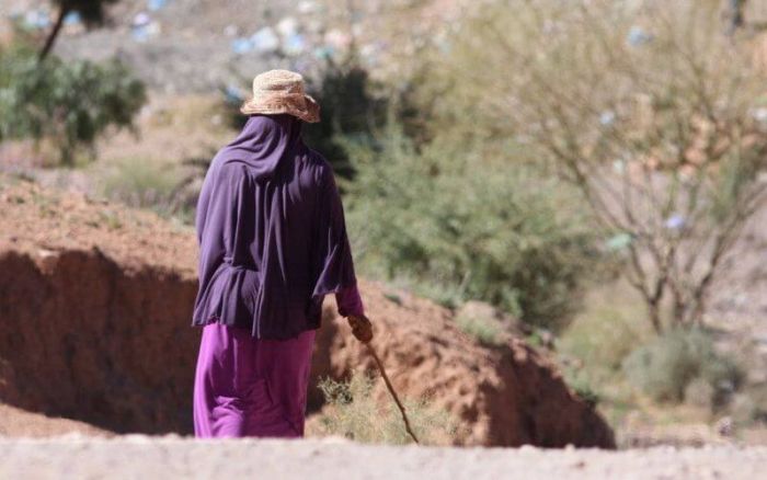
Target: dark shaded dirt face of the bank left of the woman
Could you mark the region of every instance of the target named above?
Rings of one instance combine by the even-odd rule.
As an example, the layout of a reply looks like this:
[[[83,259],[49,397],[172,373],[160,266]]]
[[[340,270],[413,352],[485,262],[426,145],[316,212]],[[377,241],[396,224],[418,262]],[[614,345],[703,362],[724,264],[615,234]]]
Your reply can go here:
[[[0,399],[115,432],[191,431],[196,282],[99,251],[0,254]]]

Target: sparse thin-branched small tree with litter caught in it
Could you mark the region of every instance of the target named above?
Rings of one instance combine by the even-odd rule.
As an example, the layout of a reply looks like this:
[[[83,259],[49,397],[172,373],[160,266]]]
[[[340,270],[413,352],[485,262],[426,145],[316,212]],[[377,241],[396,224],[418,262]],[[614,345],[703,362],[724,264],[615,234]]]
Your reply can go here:
[[[514,2],[474,14],[435,67],[478,128],[535,148],[625,252],[656,331],[699,323],[767,197],[764,78],[717,2]]]

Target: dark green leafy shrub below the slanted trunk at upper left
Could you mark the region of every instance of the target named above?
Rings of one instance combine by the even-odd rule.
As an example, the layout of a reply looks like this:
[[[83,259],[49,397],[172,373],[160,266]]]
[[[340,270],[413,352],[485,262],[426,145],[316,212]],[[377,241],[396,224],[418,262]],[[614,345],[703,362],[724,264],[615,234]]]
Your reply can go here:
[[[146,102],[144,84],[118,61],[38,62],[31,48],[12,46],[0,47],[0,141],[48,140],[66,165],[108,127],[130,127]]]

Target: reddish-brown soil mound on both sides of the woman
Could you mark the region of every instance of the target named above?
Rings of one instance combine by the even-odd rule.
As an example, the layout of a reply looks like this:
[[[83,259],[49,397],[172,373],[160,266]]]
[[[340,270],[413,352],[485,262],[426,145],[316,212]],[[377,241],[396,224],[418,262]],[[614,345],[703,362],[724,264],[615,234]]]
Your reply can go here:
[[[0,402],[113,432],[190,433],[193,232],[10,183],[0,178]],[[604,420],[520,340],[480,346],[449,310],[374,283],[362,290],[393,382],[451,412],[458,444],[614,446]],[[331,308],[318,339],[314,380],[374,368]]]

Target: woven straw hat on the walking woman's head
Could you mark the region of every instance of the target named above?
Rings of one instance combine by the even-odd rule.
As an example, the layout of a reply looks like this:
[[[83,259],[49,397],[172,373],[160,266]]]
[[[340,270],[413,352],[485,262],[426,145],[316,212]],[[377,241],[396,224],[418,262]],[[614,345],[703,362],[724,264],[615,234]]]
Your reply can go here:
[[[245,115],[287,113],[304,122],[320,121],[320,105],[304,92],[304,77],[288,70],[270,70],[253,79],[253,98],[240,108]]]

